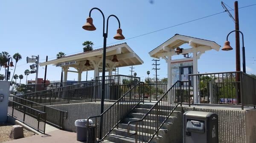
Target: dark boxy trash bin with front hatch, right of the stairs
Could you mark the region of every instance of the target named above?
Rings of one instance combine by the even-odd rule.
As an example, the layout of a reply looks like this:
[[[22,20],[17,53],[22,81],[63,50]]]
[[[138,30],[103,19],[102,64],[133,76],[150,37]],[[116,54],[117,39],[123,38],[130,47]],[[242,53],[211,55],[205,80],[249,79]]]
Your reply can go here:
[[[185,112],[183,143],[218,143],[218,115],[212,112]]]

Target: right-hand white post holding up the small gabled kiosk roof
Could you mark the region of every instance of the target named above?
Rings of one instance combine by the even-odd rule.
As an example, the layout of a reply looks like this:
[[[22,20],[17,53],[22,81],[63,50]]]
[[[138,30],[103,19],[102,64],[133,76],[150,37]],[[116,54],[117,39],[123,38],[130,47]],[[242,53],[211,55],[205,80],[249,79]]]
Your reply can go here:
[[[193,50],[193,74],[198,74],[198,52],[197,52],[197,49],[194,49]],[[200,95],[198,94],[198,89],[196,87],[197,85],[197,78],[196,77],[193,77],[193,100],[194,100],[194,103],[200,103]],[[198,95],[198,97],[197,97]],[[198,101],[197,101],[198,100]]]

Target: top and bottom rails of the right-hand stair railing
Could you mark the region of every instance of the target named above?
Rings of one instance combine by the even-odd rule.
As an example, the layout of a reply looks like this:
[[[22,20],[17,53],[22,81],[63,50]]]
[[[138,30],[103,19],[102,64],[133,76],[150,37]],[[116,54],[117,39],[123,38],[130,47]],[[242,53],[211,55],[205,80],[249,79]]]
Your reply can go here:
[[[131,136],[131,135],[137,135],[137,126],[138,126],[138,122],[140,121],[143,121],[148,115],[149,113],[154,109],[154,107],[157,106],[157,104],[167,95],[167,93],[172,90],[172,88],[178,83],[178,82],[181,82],[181,81],[176,81],[175,84],[172,85],[171,88],[169,88],[169,90],[166,91],[166,93],[164,93],[162,95],[162,97],[149,109],[149,111],[139,120],[134,120],[134,121],[129,121],[128,124],[127,124],[127,132],[128,132],[128,135]],[[157,127],[157,130],[154,132],[154,135],[157,134],[157,132],[159,131],[159,129],[161,128],[161,126],[163,126],[163,124],[167,121],[167,119],[170,117],[170,115],[174,112],[174,110],[177,108],[177,106],[181,104],[181,102],[177,103],[177,105],[172,109],[172,112],[169,113],[169,115],[166,117],[166,119],[160,124],[159,127]],[[130,124],[131,123],[134,123],[135,122],[135,133],[131,134],[130,133]],[[154,137],[154,135],[151,136],[150,140]],[[135,142],[137,143],[137,136],[135,138]]]

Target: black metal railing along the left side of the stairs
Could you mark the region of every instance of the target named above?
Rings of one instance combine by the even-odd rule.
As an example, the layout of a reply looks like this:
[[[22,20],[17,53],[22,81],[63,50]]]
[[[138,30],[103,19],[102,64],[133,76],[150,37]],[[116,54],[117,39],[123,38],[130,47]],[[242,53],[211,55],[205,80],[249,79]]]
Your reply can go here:
[[[93,123],[98,125],[96,127],[96,139],[97,142],[102,141],[116,126],[122,121],[123,117],[128,115],[129,112],[141,101],[143,96],[140,95],[140,85],[143,82],[139,82],[132,86],[122,97],[120,97],[114,104],[106,109],[101,115],[89,117],[93,120]],[[89,122],[87,122],[87,129],[89,129]],[[89,131],[87,132],[89,133]],[[90,136],[90,135],[87,135]]]

